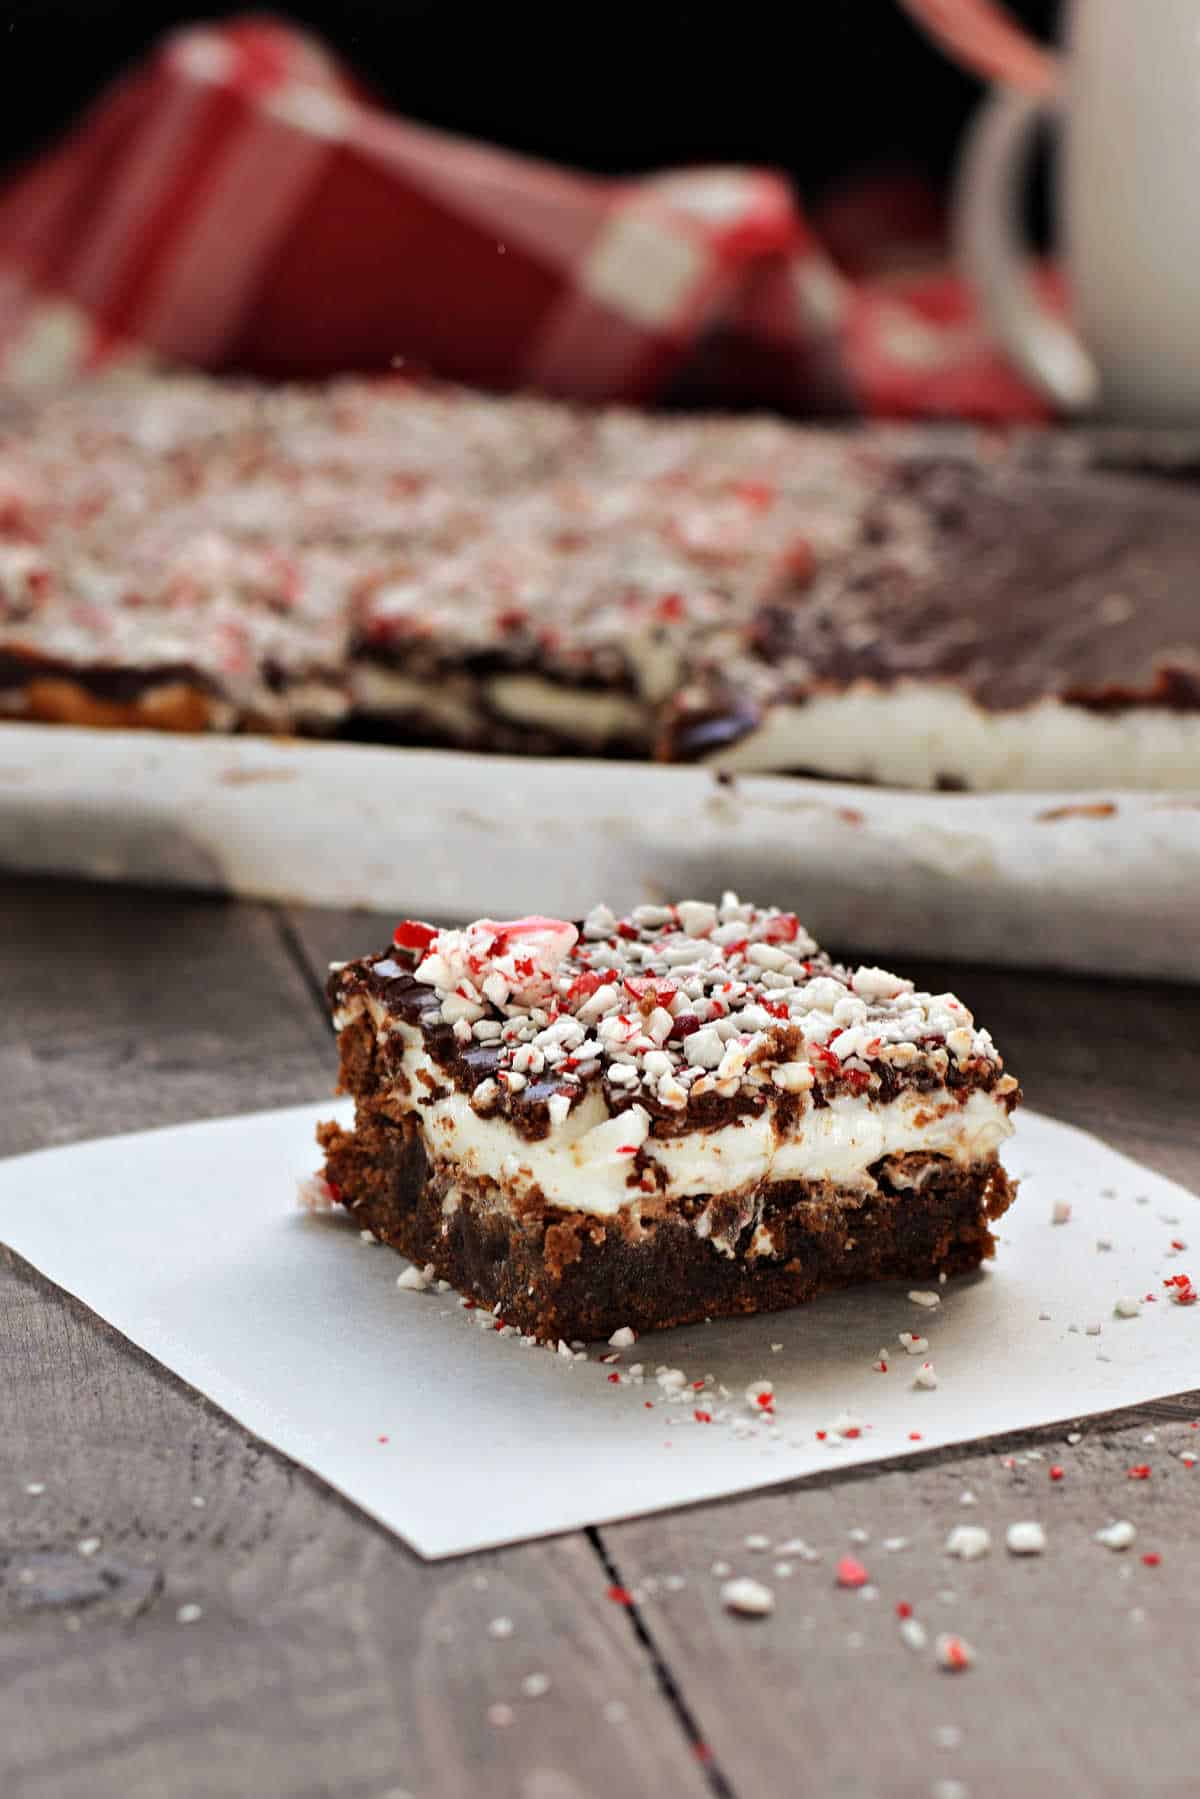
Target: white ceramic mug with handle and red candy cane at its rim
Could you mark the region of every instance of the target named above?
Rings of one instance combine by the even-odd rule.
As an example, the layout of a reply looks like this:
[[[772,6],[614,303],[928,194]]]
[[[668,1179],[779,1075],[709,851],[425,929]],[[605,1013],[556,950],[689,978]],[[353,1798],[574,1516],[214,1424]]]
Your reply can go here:
[[[955,194],[961,263],[995,335],[1058,407],[1200,423],[1200,0],[1067,0],[1061,56],[1025,45],[1024,67],[968,41],[1002,23],[979,0],[907,4],[957,54],[1022,83],[981,108]],[[1074,327],[1042,306],[1022,241],[1047,113],[1065,133],[1056,218]]]

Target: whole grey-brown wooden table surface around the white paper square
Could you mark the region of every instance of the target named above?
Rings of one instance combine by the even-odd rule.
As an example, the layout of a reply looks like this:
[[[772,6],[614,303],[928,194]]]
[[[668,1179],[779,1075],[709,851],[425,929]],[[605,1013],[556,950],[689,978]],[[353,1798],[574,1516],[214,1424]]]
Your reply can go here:
[[[324,964],[387,928],[2,883],[0,1153],[324,1096]],[[1200,1189],[1198,989],[910,971],[964,993],[1031,1105]],[[1200,1448],[1196,1392],[1076,1445],[1034,1432],[428,1565],[16,1258],[0,1365],[4,1799],[1200,1792],[1200,1466],[1171,1454]],[[1047,1553],[1011,1558],[1029,1517]],[[1126,1554],[1092,1542],[1119,1517]],[[963,1520],[991,1556],[945,1556]],[[835,1589],[851,1529],[874,1599]],[[775,1580],[750,1533],[822,1562]],[[770,1619],[721,1610],[721,1560],[763,1565]],[[975,1668],[907,1650],[900,1601]]]

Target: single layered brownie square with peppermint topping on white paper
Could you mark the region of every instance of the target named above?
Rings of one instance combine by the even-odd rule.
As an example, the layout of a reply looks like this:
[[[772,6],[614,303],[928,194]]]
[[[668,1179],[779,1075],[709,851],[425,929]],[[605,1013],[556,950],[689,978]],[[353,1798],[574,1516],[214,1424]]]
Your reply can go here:
[[[963,1272],[1013,1198],[1016,1081],[963,1002],[734,894],[405,921],[329,1000],[335,1196],[540,1338]]]

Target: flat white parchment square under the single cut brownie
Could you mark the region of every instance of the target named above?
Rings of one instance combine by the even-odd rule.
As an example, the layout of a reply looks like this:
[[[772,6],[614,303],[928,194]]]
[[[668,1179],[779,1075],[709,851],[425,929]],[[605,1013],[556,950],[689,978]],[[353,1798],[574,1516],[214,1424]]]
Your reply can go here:
[[[1038,1114],[1020,1114],[1007,1150],[1022,1191],[997,1263],[939,1288],[934,1310],[903,1286],[858,1288],[644,1337],[613,1367],[596,1347],[587,1362],[522,1347],[453,1293],[401,1292],[390,1250],[297,1211],[315,1121],[338,1110],[0,1162],[0,1240],[425,1556],[905,1454],[912,1432],[932,1448],[1081,1418],[1200,1378],[1200,1304],[1162,1286],[1200,1279],[1200,1204]],[[1056,1200],[1069,1223],[1051,1223]],[[1114,1315],[1117,1297],[1146,1293],[1139,1317]],[[927,1356],[905,1355],[901,1331],[923,1333]],[[912,1385],[925,1358],[936,1391]],[[608,1378],[635,1362],[644,1385]],[[669,1396],[662,1364],[716,1385]],[[757,1380],[774,1383],[774,1423],[747,1405]],[[858,1436],[838,1441],[831,1427],[847,1419]]]

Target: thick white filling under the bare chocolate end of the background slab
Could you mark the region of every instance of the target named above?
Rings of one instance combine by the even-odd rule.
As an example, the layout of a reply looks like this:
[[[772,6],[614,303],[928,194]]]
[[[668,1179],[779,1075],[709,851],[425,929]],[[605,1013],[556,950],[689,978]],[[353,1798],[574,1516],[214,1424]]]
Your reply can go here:
[[[1088,712],[1052,700],[991,712],[936,682],[867,682],[775,705],[707,761],[738,774],[806,768],[842,781],[932,788],[1195,788],[1200,712]]]

